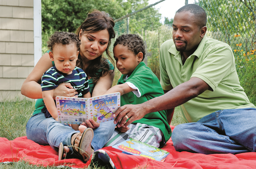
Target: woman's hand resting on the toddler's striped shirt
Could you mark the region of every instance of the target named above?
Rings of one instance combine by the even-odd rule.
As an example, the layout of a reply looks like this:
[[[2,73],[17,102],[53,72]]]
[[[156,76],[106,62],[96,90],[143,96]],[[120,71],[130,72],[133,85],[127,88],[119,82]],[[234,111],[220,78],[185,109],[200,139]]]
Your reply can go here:
[[[56,89],[53,90],[53,99],[56,96],[63,96],[63,97],[77,97],[76,90],[73,89],[70,83],[61,83]]]

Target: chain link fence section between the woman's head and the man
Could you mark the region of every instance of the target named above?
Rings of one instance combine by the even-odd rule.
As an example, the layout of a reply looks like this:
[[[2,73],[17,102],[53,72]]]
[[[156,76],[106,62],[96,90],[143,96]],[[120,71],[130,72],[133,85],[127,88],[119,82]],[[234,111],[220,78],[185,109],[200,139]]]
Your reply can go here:
[[[172,20],[161,22],[161,14],[154,6],[163,2],[160,0],[139,11],[115,20],[116,38],[122,34],[138,34],[143,38],[146,46],[145,64],[160,78],[159,52],[162,43],[172,38]]]

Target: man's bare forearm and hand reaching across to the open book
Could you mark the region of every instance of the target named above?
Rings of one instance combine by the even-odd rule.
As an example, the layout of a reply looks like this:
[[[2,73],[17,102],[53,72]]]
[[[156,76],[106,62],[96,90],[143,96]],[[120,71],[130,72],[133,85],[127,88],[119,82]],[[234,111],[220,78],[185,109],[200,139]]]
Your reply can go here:
[[[128,126],[133,121],[143,118],[148,113],[174,109],[200,95],[207,89],[209,89],[207,83],[197,77],[192,77],[189,81],[176,86],[162,96],[138,105],[123,105],[115,112],[114,116],[116,116],[116,119],[114,123],[116,124],[121,118],[127,115],[130,119],[125,123],[126,118],[123,118],[117,127],[122,126],[124,123],[125,126]]]

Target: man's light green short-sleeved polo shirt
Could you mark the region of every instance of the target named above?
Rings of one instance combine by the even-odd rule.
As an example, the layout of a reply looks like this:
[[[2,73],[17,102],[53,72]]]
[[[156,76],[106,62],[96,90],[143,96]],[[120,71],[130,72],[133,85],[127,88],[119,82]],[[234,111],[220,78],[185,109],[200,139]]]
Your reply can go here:
[[[181,105],[186,122],[196,122],[218,110],[256,108],[240,86],[232,49],[206,36],[184,65],[173,40],[164,42],[160,48],[160,77],[164,90],[173,89],[191,77],[198,77],[211,87]]]

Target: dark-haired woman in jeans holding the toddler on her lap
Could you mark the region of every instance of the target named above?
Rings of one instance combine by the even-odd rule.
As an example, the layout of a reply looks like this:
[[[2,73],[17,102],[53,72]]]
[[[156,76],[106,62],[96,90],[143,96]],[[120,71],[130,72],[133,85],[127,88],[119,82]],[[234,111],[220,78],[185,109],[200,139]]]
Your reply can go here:
[[[76,66],[82,68],[89,77],[92,96],[102,95],[110,89],[113,83],[113,65],[106,59],[103,59],[102,54],[106,51],[107,56],[110,57],[108,48],[111,43],[111,38],[115,37],[113,30],[114,25],[113,19],[107,13],[94,10],[88,14],[86,20],[76,30],[76,34],[81,41],[80,54]],[[21,93],[31,99],[38,99],[36,102],[36,110],[27,122],[27,138],[41,145],[50,145],[57,151],[62,143],[67,146],[75,145],[76,137],[80,136],[78,136],[79,131],[73,130],[67,124],[60,124],[53,118],[45,118],[44,114],[41,112],[44,106],[41,99],[41,77],[53,64],[54,63],[50,61],[49,54],[45,53],[24,81],[21,87]],[[75,89],[72,89],[69,83],[63,83],[54,89],[53,98],[55,99],[56,96],[73,97],[76,93]],[[113,121],[99,125],[92,119],[90,119],[90,121],[86,120],[86,124],[83,124],[86,125],[86,127],[94,129],[95,136],[91,142],[91,146],[94,150],[103,147],[113,134],[116,125]],[[104,134],[104,137],[102,137],[102,134]],[[66,152],[69,152],[69,158],[81,157],[79,150],[73,150],[72,147],[69,147],[69,150],[66,150]],[[90,153],[93,153],[93,151]],[[84,159],[84,156],[82,159]]]

